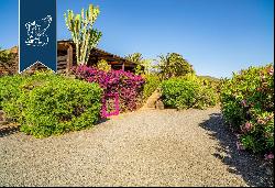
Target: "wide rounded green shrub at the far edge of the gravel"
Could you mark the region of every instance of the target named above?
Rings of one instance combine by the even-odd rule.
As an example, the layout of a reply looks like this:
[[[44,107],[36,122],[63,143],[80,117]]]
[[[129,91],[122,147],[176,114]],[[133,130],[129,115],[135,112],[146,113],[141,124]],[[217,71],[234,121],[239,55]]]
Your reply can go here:
[[[162,84],[162,98],[166,107],[204,109],[217,103],[215,89],[205,86],[195,75],[172,78]]]

